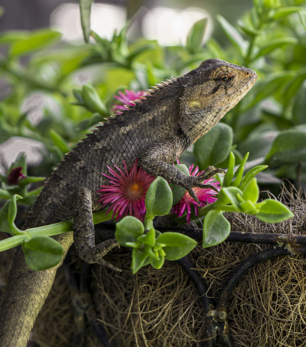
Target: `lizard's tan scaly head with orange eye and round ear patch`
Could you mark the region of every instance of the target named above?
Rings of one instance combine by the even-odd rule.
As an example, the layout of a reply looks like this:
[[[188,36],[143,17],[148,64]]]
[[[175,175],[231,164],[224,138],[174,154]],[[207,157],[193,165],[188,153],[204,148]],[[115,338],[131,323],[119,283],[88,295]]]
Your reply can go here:
[[[245,96],[257,74],[243,66],[208,59],[182,78],[180,125],[198,138]]]

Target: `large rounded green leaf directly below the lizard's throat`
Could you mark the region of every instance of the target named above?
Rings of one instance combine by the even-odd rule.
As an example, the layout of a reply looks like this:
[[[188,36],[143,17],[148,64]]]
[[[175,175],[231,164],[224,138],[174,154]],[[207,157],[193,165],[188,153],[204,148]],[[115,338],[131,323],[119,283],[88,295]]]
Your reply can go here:
[[[216,166],[227,158],[233,142],[233,130],[225,123],[216,124],[194,144],[194,155],[201,169]]]

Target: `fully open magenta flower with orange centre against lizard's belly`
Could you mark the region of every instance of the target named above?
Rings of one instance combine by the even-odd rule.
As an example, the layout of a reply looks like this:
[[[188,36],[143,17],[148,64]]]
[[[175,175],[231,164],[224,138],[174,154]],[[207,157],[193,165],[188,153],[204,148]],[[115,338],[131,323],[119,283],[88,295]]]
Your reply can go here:
[[[127,169],[125,161],[123,164],[124,171],[114,165],[117,171],[107,167],[111,176],[102,173],[110,179],[110,185],[101,186],[98,192],[102,194],[98,202],[102,203],[102,207],[110,204],[107,213],[113,210],[112,218],[117,213],[116,220],[126,215],[133,215],[143,221],[146,213],[145,196],[154,177],[142,168],[138,168],[137,160],[130,170]]]

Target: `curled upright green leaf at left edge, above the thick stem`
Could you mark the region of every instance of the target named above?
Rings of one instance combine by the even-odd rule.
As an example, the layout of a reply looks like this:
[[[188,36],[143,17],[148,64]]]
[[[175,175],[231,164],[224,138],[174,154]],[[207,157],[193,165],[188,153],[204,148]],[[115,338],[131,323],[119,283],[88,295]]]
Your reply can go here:
[[[14,194],[0,210],[0,230],[11,235],[25,234],[25,231],[19,230],[14,223],[17,214],[16,201],[19,199],[22,199],[22,196]]]

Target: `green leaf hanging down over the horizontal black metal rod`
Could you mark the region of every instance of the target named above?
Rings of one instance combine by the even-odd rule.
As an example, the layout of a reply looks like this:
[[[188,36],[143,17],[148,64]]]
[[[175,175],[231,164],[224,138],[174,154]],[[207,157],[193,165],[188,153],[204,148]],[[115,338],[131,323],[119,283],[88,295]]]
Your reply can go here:
[[[203,223],[203,248],[218,245],[227,239],[231,225],[221,211],[209,211]]]

